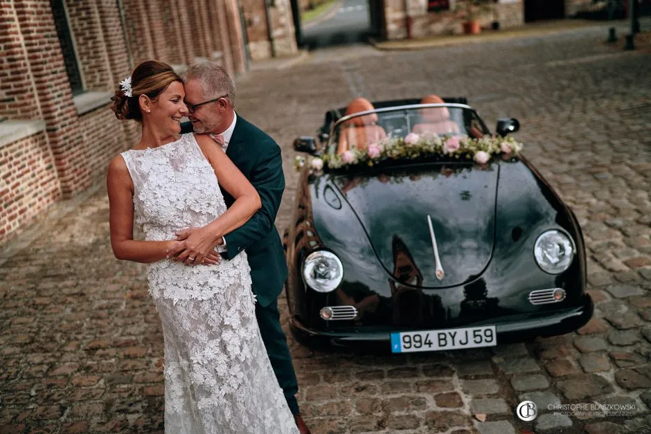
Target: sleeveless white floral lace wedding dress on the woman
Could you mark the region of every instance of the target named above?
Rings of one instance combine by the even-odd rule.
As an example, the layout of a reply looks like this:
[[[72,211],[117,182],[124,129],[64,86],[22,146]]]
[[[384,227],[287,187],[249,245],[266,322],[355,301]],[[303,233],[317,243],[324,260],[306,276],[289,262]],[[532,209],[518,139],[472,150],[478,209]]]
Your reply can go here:
[[[193,134],[123,152],[145,239],[205,226],[226,206]],[[165,339],[166,433],[298,433],[262,343],[244,253],[217,265],[150,264]]]

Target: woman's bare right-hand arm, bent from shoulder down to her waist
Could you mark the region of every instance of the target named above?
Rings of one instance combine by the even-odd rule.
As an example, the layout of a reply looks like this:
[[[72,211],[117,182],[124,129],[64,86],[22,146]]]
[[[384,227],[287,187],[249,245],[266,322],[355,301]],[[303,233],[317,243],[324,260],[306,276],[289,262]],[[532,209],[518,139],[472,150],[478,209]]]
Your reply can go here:
[[[221,244],[224,235],[246,223],[262,206],[256,189],[213,139],[197,134],[195,138],[204,156],[213,166],[220,186],[229,192],[235,201],[226,213],[203,228],[186,231],[189,235],[183,240],[184,246],[170,250],[170,255],[178,254],[176,260],[179,262],[195,258],[186,264],[201,263],[208,252],[212,251],[217,244]]]

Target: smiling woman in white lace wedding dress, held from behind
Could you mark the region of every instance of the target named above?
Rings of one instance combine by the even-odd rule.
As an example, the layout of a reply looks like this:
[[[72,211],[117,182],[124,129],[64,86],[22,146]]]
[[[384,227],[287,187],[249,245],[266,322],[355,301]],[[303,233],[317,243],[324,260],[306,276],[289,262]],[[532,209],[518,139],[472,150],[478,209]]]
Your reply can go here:
[[[166,433],[298,433],[260,337],[246,255],[167,255],[183,243],[179,230],[242,226],[260,208],[258,193],[211,138],[179,134],[188,109],[168,64],[139,64],[112,100],[118,119],[142,124],[140,142],[109,165],[111,244],[118,259],[150,264]],[[220,185],[235,198],[228,210]],[[134,217],[145,240],[133,239]]]

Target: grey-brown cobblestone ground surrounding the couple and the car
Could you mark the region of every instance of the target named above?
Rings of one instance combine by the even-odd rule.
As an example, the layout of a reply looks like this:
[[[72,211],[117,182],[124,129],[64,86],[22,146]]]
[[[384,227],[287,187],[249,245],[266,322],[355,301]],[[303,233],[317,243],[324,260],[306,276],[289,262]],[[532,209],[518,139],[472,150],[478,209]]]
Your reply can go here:
[[[326,109],[437,93],[466,96],[493,130],[519,119],[524,155],[587,244],[596,309],[575,333],[416,355],[326,352],[289,336],[313,433],[651,433],[651,56],[606,37],[595,26],[428,51],[336,48],[239,80],[239,113],[283,147],[281,233],[292,141]],[[0,281],[0,433],[163,431],[161,326],[145,266],[112,254],[103,180],[0,251]],[[515,416],[525,399],[541,411],[533,422]],[[594,403],[634,409],[548,410]]]

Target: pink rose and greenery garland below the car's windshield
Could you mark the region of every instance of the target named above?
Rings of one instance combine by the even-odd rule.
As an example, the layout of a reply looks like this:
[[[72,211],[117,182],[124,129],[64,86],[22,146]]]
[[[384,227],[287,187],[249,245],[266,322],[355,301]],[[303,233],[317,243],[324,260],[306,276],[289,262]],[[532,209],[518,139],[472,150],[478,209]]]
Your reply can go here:
[[[449,156],[458,160],[472,160],[481,165],[488,163],[492,156],[504,154],[515,156],[522,150],[522,144],[512,137],[470,138],[468,136],[445,136],[436,134],[409,133],[402,138],[383,138],[371,143],[366,150],[353,149],[341,155],[326,154],[310,161],[310,169],[322,170],[349,168],[359,165],[373,166],[387,160],[422,159],[436,156]],[[305,159],[297,156],[296,169],[305,164]]]

